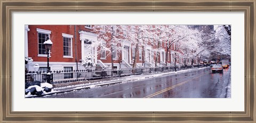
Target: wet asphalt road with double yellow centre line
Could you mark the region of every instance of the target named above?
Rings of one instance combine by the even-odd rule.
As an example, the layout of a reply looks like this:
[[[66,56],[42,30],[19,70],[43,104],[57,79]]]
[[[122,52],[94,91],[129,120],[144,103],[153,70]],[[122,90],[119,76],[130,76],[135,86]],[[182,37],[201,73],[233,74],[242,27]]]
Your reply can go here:
[[[211,68],[164,75],[79,91],[46,96],[47,98],[225,98],[231,67],[223,73]]]

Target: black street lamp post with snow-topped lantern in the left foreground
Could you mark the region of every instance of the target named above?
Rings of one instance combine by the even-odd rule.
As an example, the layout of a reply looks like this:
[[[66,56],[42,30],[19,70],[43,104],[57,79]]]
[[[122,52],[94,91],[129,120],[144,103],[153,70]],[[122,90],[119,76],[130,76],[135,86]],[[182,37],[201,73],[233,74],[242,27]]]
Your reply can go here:
[[[46,38],[45,42],[44,42],[44,47],[45,47],[45,51],[47,53],[47,73],[46,73],[46,80],[47,83],[51,84],[51,73],[50,73],[50,68],[49,68],[49,58],[50,58],[50,51],[52,48],[52,41],[49,39],[49,37]]]

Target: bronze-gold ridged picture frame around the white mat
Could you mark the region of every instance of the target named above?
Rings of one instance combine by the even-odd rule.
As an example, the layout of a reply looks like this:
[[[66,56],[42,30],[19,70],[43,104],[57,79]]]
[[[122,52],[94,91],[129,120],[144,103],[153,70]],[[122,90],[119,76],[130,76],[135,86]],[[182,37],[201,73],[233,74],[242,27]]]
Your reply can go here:
[[[256,1],[1,0],[0,122],[256,122]],[[97,10],[95,10],[95,7]],[[11,18],[14,11],[243,11],[245,13],[245,111],[242,112],[31,112],[12,111]]]

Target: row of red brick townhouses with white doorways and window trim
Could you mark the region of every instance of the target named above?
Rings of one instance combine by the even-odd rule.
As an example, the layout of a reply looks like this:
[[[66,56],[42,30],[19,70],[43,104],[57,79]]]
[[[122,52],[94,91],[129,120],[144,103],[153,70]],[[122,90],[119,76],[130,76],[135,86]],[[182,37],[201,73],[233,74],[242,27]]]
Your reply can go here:
[[[82,61],[85,56],[91,54],[95,68],[119,69],[132,67],[135,59],[135,46],[123,38],[119,47],[122,50],[118,53],[113,48],[113,55],[109,51],[93,46],[92,42],[99,40],[97,32],[92,25],[26,25],[25,26],[25,58],[26,70],[35,71],[35,65],[39,65],[40,71],[47,71],[47,55],[44,42],[49,37],[53,43],[50,53],[50,70],[84,70]],[[111,37],[110,34],[108,34]],[[103,45],[109,47],[110,39],[103,41]],[[153,49],[157,44],[148,44],[140,48],[137,53],[137,67],[155,67],[156,54]],[[174,63],[174,52],[176,46],[172,46],[166,55],[166,43],[161,43],[157,65],[172,65]],[[101,51],[99,53],[99,51]],[[166,59],[167,57],[167,59]],[[177,58],[177,64],[182,59]],[[113,62],[113,67],[112,67]],[[95,69],[94,68],[94,69]]]

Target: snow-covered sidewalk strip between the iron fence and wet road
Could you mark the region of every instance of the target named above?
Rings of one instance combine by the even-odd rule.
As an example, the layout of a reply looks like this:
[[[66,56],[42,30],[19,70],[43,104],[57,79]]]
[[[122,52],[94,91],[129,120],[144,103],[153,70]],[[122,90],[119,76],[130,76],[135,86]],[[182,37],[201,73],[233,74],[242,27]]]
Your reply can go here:
[[[173,71],[173,72],[158,72],[158,73],[148,73],[148,74],[142,74],[142,75],[132,75],[132,76],[126,76],[126,77],[116,77],[116,78],[107,78],[107,79],[98,79],[98,80],[86,80],[86,81],[80,81],[80,82],[70,82],[66,84],[56,84],[53,85],[53,91],[49,93],[45,93],[42,95],[33,95],[29,97],[41,97],[45,95],[52,95],[52,94],[59,94],[59,93],[65,93],[65,92],[72,92],[76,90],[81,89],[90,89],[94,87],[100,87],[100,86],[106,86],[106,85],[112,85],[112,84],[118,84],[118,83],[127,83],[135,80],[142,80],[142,79],[149,79],[153,77],[159,77],[159,76],[170,76],[173,74],[179,74],[184,72],[190,72],[195,71],[199,69],[206,69],[205,68],[195,68],[195,69],[187,69],[187,70],[180,70],[180,71]]]

